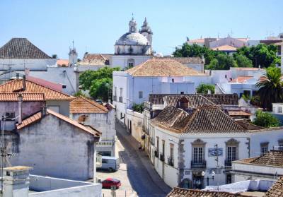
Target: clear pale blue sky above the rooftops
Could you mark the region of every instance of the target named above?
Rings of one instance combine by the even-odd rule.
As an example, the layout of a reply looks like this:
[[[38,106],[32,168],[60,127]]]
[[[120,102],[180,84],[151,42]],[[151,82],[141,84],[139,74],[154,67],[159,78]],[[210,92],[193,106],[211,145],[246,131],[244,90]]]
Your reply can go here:
[[[74,40],[84,52],[113,53],[134,13],[138,28],[146,16],[156,52],[171,54],[186,37],[250,37],[283,32],[282,0],[1,0],[0,45],[27,37],[47,54],[67,58]],[[281,20],[280,20],[281,19]]]

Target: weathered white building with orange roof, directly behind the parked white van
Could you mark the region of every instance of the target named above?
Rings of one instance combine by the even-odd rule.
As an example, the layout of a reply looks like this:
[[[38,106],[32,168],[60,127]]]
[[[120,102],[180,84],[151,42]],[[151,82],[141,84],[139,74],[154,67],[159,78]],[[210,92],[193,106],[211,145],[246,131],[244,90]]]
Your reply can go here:
[[[115,109],[112,105],[103,106],[86,97],[77,97],[70,102],[70,117],[101,132],[96,146],[98,154],[115,156]]]

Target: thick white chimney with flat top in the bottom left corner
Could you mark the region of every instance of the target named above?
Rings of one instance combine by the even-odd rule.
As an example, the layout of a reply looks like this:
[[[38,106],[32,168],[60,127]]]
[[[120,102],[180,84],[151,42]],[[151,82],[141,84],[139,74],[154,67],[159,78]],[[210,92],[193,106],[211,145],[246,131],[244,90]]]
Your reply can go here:
[[[4,168],[4,197],[28,197],[30,169],[25,166]]]

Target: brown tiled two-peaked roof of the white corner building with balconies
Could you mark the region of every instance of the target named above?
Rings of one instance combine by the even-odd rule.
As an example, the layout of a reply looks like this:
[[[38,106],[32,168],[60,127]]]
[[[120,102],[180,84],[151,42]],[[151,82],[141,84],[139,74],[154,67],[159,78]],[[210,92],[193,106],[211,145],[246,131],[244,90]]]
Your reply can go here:
[[[188,113],[176,107],[166,107],[151,122],[177,133],[246,131],[219,107],[213,105],[203,105]]]

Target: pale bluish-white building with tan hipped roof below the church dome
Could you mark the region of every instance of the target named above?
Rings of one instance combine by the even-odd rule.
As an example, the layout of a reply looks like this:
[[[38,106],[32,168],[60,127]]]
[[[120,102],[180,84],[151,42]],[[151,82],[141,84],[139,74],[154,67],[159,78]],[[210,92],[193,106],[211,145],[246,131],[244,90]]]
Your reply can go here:
[[[127,109],[146,101],[149,94],[193,94],[200,83],[209,83],[209,76],[171,59],[151,59],[127,71],[115,71],[112,94],[117,119],[122,120]]]

